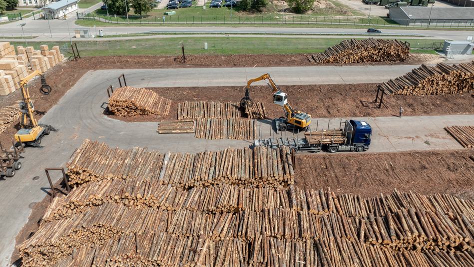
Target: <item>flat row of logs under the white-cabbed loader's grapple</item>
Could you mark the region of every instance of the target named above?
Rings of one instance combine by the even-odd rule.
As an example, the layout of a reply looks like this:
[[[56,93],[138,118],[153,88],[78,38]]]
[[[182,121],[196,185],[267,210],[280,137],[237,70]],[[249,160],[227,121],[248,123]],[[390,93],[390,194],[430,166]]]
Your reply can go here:
[[[255,102],[243,110],[239,102],[206,102],[185,101],[178,103],[178,119],[196,118],[241,118],[243,113],[248,118],[265,118],[265,106],[261,102]]]

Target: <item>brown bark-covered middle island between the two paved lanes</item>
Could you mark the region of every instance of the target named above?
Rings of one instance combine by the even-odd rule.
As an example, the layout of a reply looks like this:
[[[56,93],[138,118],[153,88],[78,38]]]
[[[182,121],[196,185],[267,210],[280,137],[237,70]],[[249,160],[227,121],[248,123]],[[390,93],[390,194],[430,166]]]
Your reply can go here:
[[[310,113],[313,117],[359,117],[359,116],[391,116],[398,115],[400,106],[404,114],[440,115],[474,113],[473,96],[466,94],[425,95],[425,96],[385,96],[388,106],[373,108],[370,104],[375,99],[377,84],[319,84],[319,85],[281,85],[280,89],[288,93],[293,108]],[[119,117],[125,121],[159,121],[176,119],[177,103],[187,101],[240,101],[244,90],[239,86],[217,87],[160,87],[150,88],[159,95],[171,99],[168,116],[133,116]],[[267,116],[270,118],[283,115],[280,106],[273,104],[272,91],[268,86],[252,86],[250,95],[254,101],[265,104]]]

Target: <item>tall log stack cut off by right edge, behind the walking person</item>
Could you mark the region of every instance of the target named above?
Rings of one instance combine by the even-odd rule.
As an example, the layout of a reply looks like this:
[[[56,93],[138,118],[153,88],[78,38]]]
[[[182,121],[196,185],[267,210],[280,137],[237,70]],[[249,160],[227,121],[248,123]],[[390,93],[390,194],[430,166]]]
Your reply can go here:
[[[380,84],[386,94],[429,95],[465,93],[474,88],[474,61],[436,66],[421,65]]]

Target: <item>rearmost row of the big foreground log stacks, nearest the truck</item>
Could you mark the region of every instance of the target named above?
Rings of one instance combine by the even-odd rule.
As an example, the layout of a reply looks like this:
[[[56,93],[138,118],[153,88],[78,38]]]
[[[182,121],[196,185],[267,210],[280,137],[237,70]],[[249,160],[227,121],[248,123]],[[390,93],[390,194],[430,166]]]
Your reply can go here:
[[[200,153],[161,154],[146,148],[111,148],[86,139],[67,162],[69,183],[146,177],[177,187],[239,183],[248,186],[282,186],[293,183],[288,147],[226,148]]]

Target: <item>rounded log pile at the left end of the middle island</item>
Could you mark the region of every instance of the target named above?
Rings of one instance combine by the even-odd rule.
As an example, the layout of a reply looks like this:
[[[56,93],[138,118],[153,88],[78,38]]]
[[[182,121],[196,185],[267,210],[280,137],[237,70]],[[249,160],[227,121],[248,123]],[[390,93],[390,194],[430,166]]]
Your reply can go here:
[[[109,98],[108,109],[118,116],[168,115],[171,100],[154,91],[130,86],[117,88]]]

